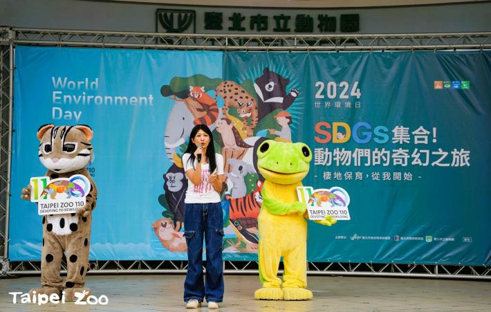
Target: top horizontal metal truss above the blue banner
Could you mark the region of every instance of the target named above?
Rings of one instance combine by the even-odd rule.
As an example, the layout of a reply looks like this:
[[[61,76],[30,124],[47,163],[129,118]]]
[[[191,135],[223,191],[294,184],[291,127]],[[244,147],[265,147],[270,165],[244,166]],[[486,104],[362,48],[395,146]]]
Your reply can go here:
[[[15,44],[223,51],[401,51],[491,48],[491,33],[216,35],[14,28]]]

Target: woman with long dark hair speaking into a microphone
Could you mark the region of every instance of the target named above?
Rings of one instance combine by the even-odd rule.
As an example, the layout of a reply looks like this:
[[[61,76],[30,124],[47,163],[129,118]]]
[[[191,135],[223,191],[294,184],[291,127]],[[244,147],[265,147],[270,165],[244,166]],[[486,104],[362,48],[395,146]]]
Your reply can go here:
[[[184,236],[187,243],[187,275],[184,301],[187,308],[218,309],[223,300],[223,211],[220,192],[223,183],[223,156],[216,154],[212,131],[196,125],[183,155],[187,177]],[[203,283],[203,235],[206,244],[206,277]]]

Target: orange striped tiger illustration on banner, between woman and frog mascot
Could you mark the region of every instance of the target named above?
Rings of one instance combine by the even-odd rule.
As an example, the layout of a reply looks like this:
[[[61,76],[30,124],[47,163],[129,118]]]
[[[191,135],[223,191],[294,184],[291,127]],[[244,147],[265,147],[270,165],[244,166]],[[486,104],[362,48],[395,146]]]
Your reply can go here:
[[[229,201],[230,224],[239,239],[237,244],[243,241],[248,248],[253,250],[257,250],[259,243],[257,217],[263,201],[261,196],[262,182],[258,180],[256,185],[256,190],[237,199],[225,195],[225,200]]]

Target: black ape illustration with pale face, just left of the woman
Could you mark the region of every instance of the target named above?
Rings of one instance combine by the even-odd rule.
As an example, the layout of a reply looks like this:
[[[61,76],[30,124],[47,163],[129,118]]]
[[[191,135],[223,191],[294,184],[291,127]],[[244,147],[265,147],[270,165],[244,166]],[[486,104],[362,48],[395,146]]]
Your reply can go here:
[[[184,199],[187,190],[187,178],[184,169],[175,164],[164,174],[165,199],[169,210],[174,214],[174,230],[179,231],[184,222]]]

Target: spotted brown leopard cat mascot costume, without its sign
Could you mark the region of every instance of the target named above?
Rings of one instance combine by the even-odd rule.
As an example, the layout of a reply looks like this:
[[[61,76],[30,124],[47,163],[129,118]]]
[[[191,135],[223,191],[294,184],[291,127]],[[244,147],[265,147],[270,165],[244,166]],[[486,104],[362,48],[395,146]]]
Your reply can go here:
[[[50,214],[43,217],[43,244],[41,247],[41,287],[29,291],[30,296],[39,293],[59,297],[65,291],[66,301],[75,301],[75,293],[91,295],[85,288],[85,275],[89,266],[92,210],[98,191],[86,169],[93,158],[91,139],[93,131],[86,125],[43,125],[37,131],[39,160],[48,168],[45,176],[69,178],[82,174],[89,179],[91,191],[86,204],[76,213]],[[22,190],[22,199],[30,199],[30,185]],[[63,253],[66,255],[66,279],[59,276]]]

